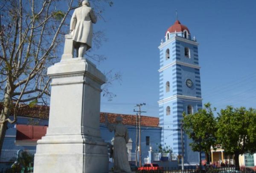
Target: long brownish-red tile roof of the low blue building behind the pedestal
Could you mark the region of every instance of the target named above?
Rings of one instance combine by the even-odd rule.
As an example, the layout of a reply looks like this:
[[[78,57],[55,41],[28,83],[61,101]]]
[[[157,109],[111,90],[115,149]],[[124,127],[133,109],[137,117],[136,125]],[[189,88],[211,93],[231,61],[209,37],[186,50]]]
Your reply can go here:
[[[0,111],[3,109],[3,103],[0,103]],[[20,108],[17,109],[17,116],[25,116],[30,118],[37,118],[37,119],[49,119],[49,106],[44,105],[34,105],[29,106],[22,104]],[[13,113],[13,110],[12,110]],[[105,122],[105,113],[100,113],[100,123]],[[135,125],[136,124],[136,116],[135,115],[126,115],[126,114],[119,114],[119,113],[107,113],[108,114],[108,121],[110,123],[115,123],[116,116],[122,116],[123,123],[125,125]],[[159,127],[159,118],[151,117],[151,116],[141,116],[141,125],[142,126],[149,126],[149,127]]]

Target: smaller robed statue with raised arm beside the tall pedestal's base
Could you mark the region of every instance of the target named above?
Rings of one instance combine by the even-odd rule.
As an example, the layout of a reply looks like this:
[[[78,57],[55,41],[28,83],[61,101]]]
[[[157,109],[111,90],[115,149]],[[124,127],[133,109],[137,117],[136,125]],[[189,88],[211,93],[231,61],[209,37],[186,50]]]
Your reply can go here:
[[[128,130],[122,124],[122,117],[116,117],[115,125],[108,123],[108,116],[105,114],[105,125],[109,131],[115,132],[114,146],[113,146],[113,159],[114,159],[114,172],[115,173],[131,173],[130,164],[128,162],[126,144],[129,141]]]

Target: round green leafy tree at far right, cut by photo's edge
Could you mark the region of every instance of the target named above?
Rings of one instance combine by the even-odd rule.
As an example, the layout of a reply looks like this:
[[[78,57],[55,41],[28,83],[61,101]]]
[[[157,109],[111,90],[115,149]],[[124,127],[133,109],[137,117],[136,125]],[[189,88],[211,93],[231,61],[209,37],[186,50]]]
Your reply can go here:
[[[256,152],[256,110],[227,106],[218,113],[218,143],[235,156],[239,169],[239,154]]]

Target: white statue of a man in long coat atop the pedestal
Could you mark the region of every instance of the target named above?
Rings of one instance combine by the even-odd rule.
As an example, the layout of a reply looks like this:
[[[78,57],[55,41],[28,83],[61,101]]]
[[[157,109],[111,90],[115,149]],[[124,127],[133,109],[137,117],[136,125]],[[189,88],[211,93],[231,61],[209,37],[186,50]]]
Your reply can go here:
[[[73,35],[73,45],[77,57],[83,57],[85,52],[91,48],[93,23],[96,21],[90,3],[84,0],[82,6],[75,9],[70,22],[70,34]]]

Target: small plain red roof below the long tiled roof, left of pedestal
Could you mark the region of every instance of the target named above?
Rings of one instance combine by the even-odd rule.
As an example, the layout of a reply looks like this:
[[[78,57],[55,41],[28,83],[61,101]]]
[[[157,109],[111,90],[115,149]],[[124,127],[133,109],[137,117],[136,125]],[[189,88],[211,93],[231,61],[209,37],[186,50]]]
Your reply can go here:
[[[45,136],[47,126],[16,125],[16,141],[37,141]]]

